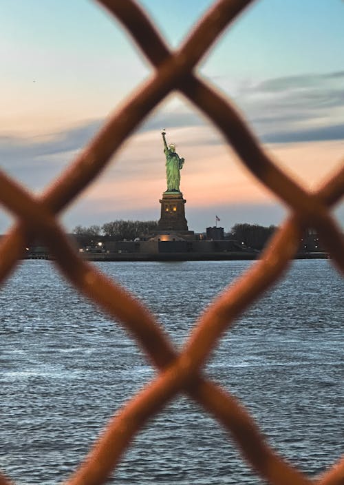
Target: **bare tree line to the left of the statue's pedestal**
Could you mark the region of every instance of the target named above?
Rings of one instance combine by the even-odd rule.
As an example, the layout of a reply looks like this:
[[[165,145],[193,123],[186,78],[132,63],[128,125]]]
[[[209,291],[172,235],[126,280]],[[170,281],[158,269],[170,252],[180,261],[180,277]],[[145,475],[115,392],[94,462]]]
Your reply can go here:
[[[84,227],[77,225],[72,233],[81,238],[109,238],[111,240],[133,240],[158,230],[156,220],[113,220],[102,226]]]

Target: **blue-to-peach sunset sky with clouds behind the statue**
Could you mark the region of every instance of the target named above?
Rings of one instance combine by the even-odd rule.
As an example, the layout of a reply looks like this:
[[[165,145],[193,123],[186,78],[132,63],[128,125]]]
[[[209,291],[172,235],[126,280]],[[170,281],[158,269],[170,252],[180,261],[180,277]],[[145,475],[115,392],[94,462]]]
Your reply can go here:
[[[171,48],[210,0],[142,0]],[[1,167],[35,194],[52,183],[153,69],[116,19],[91,0],[0,0]],[[344,156],[344,2],[256,0],[215,42],[198,74],[230,99],[275,159],[314,188]],[[158,220],[166,189],[161,130],[186,160],[189,229],[215,215],[278,225],[288,208],[248,173],[217,129],[173,92],[61,216],[66,231]],[[334,210],[341,226],[344,207]],[[0,234],[13,223],[0,210]]]

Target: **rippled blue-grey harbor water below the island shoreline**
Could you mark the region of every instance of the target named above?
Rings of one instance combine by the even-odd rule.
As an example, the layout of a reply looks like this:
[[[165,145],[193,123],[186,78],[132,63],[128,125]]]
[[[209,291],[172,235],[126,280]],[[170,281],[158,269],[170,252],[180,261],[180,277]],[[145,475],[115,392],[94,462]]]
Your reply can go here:
[[[147,304],[177,347],[250,265],[99,262]],[[23,261],[0,291],[0,468],[17,484],[63,482],[154,369],[118,322],[59,276]],[[329,260],[294,261],[222,338],[205,371],[309,476],[343,454],[344,283]],[[131,443],[111,483],[257,484],[213,417],[179,396]]]

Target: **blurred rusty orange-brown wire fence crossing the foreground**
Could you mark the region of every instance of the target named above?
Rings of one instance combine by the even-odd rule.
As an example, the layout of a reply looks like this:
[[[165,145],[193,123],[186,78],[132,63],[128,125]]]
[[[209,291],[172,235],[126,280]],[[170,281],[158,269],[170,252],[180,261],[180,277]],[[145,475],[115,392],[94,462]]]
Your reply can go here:
[[[16,225],[1,240],[1,282],[14,270],[25,246],[39,236],[54,254],[56,266],[65,277],[122,322],[158,369],[158,376],[114,415],[67,484],[104,483],[132,437],[166,402],[184,392],[228,430],[248,464],[270,484],[343,485],[343,459],[319,479],[305,477],[270,448],[250,414],[232,395],[208,380],[202,367],[233,320],[281,276],[296,254],[306,228],[313,227],[319,232],[334,264],[344,271],[343,236],[330,213],[331,207],[343,196],[344,166],[317,191],[306,191],[269,158],[230,101],[195,74],[194,68],[206,50],[252,0],[217,1],[175,52],[166,47],[149,17],[133,0],[98,0],[98,3],[125,26],[147,56],[153,66],[151,78],[109,118],[42,196],[29,194],[0,172],[0,200],[17,218]],[[235,149],[241,163],[290,208],[290,215],[261,260],[204,311],[180,353],[147,307],[78,257],[56,219],[95,180],[131,132],[172,90],[180,91],[202,110]],[[0,485],[10,483],[5,475],[0,475]]]

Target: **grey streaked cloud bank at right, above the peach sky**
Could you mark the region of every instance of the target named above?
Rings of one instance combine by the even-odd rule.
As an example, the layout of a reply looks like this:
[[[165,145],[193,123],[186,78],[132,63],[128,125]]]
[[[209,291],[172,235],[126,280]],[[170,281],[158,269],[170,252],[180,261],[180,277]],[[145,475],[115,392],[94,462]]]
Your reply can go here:
[[[304,74],[260,82],[244,81],[228,90],[217,80],[261,141],[292,143],[344,138],[344,71]]]

